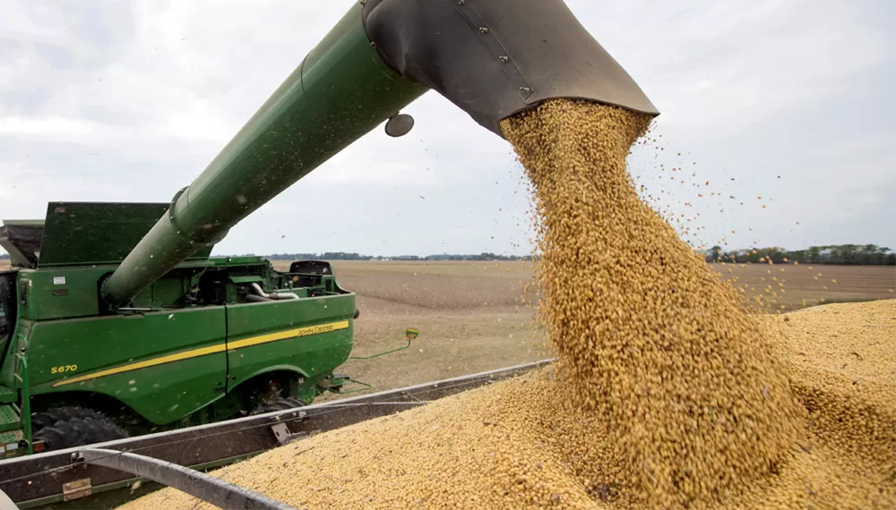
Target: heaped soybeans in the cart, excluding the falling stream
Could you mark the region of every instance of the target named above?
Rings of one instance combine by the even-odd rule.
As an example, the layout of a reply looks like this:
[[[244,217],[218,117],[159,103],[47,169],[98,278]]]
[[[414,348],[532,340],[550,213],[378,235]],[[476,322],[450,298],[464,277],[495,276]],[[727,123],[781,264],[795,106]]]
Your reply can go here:
[[[807,342],[882,342],[890,347],[874,357],[875,363],[896,366],[894,326],[853,327],[896,323],[896,300],[825,305],[770,320],[783,324],[783,318],[805,326],[781,326],[777,342],[784,352]],[[863,369],[856,364],[835,372],[815,368],[826,358],[822,349],[806,349],[798,358],[788,354],[788,372],[797,374],[791,387],[801,404],[813,407],[804,421],[807,437],[791,448],[777,474],[754,480],[743,496],[715,507],[896,505],[892,379],[868,378],[864,389],[857,389],[852,378]],[[625,483],[614,481],[625,480],[626,473],[612,456],[607,421],[591,412],[571,412],[564,403],[566,389],[552,380],[551,371],[333,430],[212,474],[297,508],[631,507]],[[214,507],[163,489],[123,508]]]

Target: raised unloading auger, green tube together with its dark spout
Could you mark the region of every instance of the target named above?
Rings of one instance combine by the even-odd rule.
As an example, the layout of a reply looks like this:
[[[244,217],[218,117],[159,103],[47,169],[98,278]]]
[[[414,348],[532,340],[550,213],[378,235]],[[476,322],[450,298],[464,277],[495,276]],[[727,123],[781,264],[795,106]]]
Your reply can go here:
[[[102,285],[111,307],[435,89],[502,136],[549,98],[659,112],[561,0],[353,5]]]

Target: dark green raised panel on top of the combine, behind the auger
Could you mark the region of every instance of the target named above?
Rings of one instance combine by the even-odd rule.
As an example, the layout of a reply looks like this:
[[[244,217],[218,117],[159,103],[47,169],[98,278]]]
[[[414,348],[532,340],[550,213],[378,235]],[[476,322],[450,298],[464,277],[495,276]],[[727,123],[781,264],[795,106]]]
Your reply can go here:
[[[159,203],[50,202],[39,267],[116,263],[168,210]],[[194,258],[207,258],[211,246]]]

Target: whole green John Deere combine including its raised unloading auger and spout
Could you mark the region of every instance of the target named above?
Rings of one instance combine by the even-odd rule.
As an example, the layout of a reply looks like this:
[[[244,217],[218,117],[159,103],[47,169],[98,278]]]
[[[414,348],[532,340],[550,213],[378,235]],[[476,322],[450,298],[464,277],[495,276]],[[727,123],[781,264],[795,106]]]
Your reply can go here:
[[[56,202],[4,226],[5,454],[339,391],[358,312],[332,267],[211,248],[376,126],[408,132],[401,108],[428,89],[499,136],[549,98],[657,114],[560,0],[362,0],[170,203]]]

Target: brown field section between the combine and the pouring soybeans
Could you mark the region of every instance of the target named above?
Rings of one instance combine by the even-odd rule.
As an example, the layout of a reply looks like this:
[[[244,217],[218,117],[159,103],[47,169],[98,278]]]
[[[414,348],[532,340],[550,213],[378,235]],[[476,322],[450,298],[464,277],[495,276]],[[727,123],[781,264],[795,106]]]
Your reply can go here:
[[[530,265],[339,262],[336,276],[340,285],[358,293],[356,354],[401,346],[406,327],[420,330],[407,351],[344,365],[346,373],[377,389],[549,356],[533,327],[533,310],[517,301],[532,280]]]

